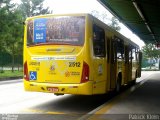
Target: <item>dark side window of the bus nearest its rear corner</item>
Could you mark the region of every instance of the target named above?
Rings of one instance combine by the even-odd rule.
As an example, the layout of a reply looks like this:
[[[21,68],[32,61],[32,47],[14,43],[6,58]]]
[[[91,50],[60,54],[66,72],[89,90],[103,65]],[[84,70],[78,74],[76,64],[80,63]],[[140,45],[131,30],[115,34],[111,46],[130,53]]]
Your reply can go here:
[[[93,50],[96,57],[105,57],[105,32],[104,29],[93,25]]]

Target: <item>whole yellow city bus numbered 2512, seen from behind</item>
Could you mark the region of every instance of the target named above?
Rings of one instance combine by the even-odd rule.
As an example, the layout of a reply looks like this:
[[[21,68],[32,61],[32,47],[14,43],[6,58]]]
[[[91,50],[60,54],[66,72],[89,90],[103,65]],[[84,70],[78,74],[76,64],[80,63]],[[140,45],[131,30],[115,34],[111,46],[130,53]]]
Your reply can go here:
[[[26,91],[105,94],[140,76],[139,46],[92,15],[35,16],[25,22]]]

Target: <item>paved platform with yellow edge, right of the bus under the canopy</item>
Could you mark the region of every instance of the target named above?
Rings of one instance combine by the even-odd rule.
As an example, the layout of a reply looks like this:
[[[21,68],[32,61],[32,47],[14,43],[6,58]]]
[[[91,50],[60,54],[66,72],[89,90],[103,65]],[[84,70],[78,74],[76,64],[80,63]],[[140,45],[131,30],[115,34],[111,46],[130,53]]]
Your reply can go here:
[[[82,119],[160,120],[160,72],[155,72]]]

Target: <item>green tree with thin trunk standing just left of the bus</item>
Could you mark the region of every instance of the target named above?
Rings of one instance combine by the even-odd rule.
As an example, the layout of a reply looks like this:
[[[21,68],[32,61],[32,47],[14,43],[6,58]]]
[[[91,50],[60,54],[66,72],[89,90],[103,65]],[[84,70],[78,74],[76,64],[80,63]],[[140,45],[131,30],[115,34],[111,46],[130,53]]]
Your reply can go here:
[[[8,19],[9,19],[8,21],[9,29],[6,32],[5,46],[7,52],[10,53],[10,55],[12,56],[12,72],[13,72],[15,65],[15,55],[22,54],[23,22],[22,22],[22,16],[20,15],[20,11],[18,9],[9,12]]]

